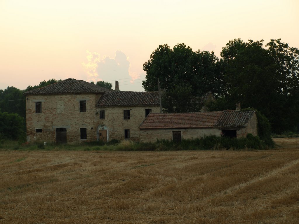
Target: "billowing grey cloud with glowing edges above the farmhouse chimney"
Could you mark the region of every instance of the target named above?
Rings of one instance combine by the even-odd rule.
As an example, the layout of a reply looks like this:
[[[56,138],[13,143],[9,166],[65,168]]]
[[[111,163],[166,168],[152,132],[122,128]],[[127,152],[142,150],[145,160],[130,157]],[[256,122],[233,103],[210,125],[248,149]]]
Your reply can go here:
[[[112,82],[114,85],[111,80],[121,79],[121,85],[121,82],[134,83],[134,80],[140,78],[140,74],[131,71],[129,58],[120,50],[115,52],[114,58],[104,56],[100,59],[100,54],[97,52],[87,51],[87,54],[87,63],[82,63],[82,65],[87,71],[89,82],[105,81]]]

